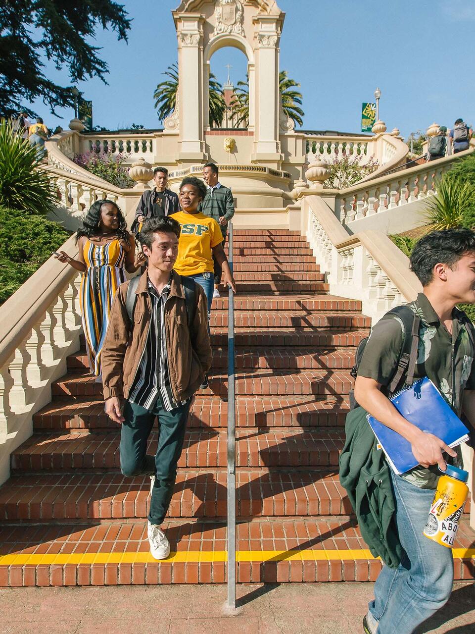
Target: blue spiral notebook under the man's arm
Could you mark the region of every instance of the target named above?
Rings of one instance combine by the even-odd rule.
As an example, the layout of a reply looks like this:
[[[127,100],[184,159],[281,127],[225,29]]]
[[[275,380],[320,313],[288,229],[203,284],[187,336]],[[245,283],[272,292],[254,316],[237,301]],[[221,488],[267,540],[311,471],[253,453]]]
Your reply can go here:
[[[390,400],[406,420],[422,431],[434,434],[449,447],[456,447],[468,439],[467,427],[429,378],[421,378],[403,388]],[[366,418],[396,474],[417,467],[419,462],[414,458],[409,441],[370,414]]]

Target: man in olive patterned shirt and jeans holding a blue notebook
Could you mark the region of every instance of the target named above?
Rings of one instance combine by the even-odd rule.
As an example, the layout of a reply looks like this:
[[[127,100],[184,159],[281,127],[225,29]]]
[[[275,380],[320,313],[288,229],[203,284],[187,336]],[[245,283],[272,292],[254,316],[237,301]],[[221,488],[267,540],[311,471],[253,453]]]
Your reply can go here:
[[[446,464],[462,464],[460,448],[452,450],[405,420],[388,396],[428,377],[459,417],[463,409],[471,424],[475,420],[475,333],[457,308],[475,303],[475,233],[429,233],[415,245],[410,266],[423,292],[372,328],[355,381],[360,408],[347,417],[340,458],[340,481],[362,534],[384,561],[363,622],[367,634],[411,634],[445,605],[453,583],[451,548],[428,540],[422,531]],[[419,466],[395,474],[378,450],[367,412],[411,443]]]

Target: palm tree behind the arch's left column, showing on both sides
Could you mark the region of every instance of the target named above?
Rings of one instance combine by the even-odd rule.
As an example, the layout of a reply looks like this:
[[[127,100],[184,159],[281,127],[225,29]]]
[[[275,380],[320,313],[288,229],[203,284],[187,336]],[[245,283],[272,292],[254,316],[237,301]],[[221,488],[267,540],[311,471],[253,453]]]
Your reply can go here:
[[[178,64],[175,62],[162,73],[170,77],[167,81],[162,81],[155,89],[155,108],[158,108],[158,118],[163,121],[175,110],[178,92]],[[210,126],[219,127],[224,117],[226,103],[224,101],[223,89],[215,75],[210,74]]]

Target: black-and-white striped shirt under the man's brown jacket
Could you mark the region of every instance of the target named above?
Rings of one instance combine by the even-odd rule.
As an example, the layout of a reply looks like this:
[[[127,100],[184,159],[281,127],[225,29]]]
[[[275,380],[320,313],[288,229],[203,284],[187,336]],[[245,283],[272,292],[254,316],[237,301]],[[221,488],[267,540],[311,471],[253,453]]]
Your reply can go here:
[[[168,373],[167,340],[165,337],[165,304],[170,294],[170,282],[158,294],[155,286],[148,280],[148,292],[151,301],[151,318],[147,343],[144,348],[136,377],[130,387],[129,401],[147,410],[153,409],[158,396],[162,399],[163,409],[171,411],[186,401],[177,403],[173,398]]]

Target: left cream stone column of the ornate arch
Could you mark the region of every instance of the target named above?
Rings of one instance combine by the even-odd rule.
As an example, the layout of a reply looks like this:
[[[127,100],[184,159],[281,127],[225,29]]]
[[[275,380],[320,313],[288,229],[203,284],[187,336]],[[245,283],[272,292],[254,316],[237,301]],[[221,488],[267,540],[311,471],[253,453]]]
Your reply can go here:
[[[177,19],[179,75],[179,155],[182,163],[206,159],[203,113],[203,22],[200,13]]]

